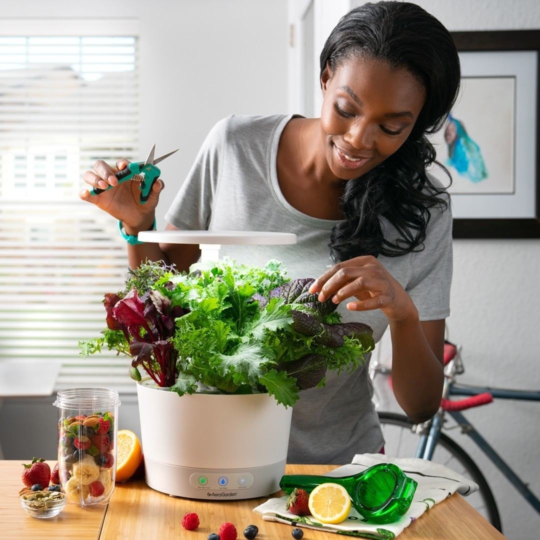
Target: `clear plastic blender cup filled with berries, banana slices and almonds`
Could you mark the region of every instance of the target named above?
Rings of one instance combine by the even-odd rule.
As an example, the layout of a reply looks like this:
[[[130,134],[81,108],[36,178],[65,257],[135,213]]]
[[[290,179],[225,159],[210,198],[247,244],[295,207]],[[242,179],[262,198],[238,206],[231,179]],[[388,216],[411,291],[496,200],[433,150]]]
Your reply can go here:
[[[118,407],[116,390],[60,390],[58,472],[68,502],[81,507],[107,504],[116,476]]]

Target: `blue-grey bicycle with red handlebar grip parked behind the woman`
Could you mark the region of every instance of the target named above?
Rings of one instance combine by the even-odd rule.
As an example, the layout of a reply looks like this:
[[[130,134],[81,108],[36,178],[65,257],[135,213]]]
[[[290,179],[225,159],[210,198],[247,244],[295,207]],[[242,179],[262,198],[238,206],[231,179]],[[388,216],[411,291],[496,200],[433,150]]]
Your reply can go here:
[[[384,449],[394,457],[420,457],[446,465],[449,469],[461,473],[478,484],[478,491],[467,497],[496,529],[502,532],[502,523],[495,497],[482,471],[456,441],[442,430],[450,416],[467,434],[478,448],[495,464],[498,470],[517,489],[519,494],[540,514],[540,500],[528,488],[527,484],[512,470],[510,465],[497,454],[495,449],[476,430],[461,411],[488,404],[494,397],[507,400],[540,401],[540,392],[513,390],[509,388],[490,388],[458,383],[456,376],[464,373],[461,347],[446,342],[444,345],[444,387],[441,407],[429,421],[415,424],[403,414],[378,411],[383,431]],[[377,362],[370,367],[372,380],[377,374],[391,376],[391,369],[380,366]],[[450,396],[468,396],[462,400],[450,400]]]

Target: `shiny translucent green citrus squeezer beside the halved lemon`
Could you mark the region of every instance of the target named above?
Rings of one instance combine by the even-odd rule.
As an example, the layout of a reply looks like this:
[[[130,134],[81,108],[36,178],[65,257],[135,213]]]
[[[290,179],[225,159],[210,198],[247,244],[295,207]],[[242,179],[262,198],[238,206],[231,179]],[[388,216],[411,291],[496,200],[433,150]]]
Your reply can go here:
[[[309,493],[326,482],[345,488],[356,511],[373,523],[392,523],[403,516],[418,485],[397,465],[379,463],[352,476],[284,475],[279,486],[286,494],[294,488]]]

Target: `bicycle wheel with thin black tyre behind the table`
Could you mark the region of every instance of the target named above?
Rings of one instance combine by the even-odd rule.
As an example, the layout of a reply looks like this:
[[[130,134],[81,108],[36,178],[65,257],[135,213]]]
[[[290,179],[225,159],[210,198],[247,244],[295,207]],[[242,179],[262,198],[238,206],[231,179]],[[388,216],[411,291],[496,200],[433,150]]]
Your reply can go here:
[[[379,413],[384,451],[393,457],[414,457],[420,437],[413,431],[414,422],[407,416],[396,413]],[[448,435],[441,433],[431,461],[470,478],[478,484],[478,491],[465,497],[465,500],[498,531],[502,532],[501,518],[497,503],[488,482],[469,454]]]

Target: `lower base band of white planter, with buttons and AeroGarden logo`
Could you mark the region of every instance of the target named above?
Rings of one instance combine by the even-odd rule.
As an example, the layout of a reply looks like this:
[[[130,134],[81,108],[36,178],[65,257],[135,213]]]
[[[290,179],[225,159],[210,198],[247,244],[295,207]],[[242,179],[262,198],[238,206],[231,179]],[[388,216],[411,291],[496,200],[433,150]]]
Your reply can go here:
[[[247,469],[180,467],[147,459],[146,484],[175,497],[215,501],[268,497],[280,490],[285,461]]]

